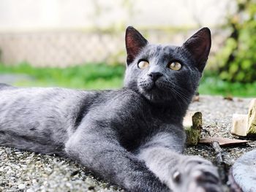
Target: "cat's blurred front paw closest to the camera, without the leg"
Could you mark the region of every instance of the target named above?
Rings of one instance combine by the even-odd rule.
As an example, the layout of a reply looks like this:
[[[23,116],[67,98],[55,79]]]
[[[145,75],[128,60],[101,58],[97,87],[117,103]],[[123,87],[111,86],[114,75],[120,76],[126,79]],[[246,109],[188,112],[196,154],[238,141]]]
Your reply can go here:
[[[217,167],[199,156],[186,156],[170,178],[174,192],[220,192],[222,191]]]

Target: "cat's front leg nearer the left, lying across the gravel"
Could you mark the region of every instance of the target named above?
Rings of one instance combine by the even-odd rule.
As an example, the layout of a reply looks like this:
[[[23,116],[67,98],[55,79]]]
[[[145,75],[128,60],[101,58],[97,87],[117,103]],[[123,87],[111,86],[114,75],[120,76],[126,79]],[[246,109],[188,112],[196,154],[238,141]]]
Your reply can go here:
[[[110,131],[110,130],[109,130]],[[138,158],[118,144],[114,133],[77,130],[66,144],[66,152],[105,180],[127,191],[170,191]]]

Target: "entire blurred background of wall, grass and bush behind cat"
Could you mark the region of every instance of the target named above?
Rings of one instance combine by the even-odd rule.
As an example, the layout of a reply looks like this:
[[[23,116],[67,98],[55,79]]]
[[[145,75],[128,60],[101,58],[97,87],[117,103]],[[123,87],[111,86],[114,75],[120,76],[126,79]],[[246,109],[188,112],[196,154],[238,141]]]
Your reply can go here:
[[[256,0],[0,0],[0,82],[120,88],[127,26],[170,45],[208,26],[199,93],[256,96]]]

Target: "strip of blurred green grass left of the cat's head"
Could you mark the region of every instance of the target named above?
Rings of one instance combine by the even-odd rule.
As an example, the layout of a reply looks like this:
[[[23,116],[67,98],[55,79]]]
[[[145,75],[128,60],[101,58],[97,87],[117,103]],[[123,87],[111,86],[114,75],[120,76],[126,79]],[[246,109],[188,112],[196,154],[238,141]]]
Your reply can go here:
[[[18,86],[59,86],[65,88],[108,89],[119,88],[123,84],[124,66],[105,64],[86,64],[60,68],[37,68],[29,64],[4,66],[0,64],[1,74],[28,74],[32,80],[15,82]]]

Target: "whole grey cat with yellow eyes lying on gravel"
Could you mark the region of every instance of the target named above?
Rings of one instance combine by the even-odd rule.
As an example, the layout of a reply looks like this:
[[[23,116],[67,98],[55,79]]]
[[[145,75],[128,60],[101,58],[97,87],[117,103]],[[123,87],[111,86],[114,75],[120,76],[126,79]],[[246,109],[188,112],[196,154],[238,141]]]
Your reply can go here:
[[[217,168],[183,155],[182,120],[211,48],[201,28],[181,47],[125,35],[124,88],[0,85],[0,145],[72,158],[127,191],[222,191]]]

